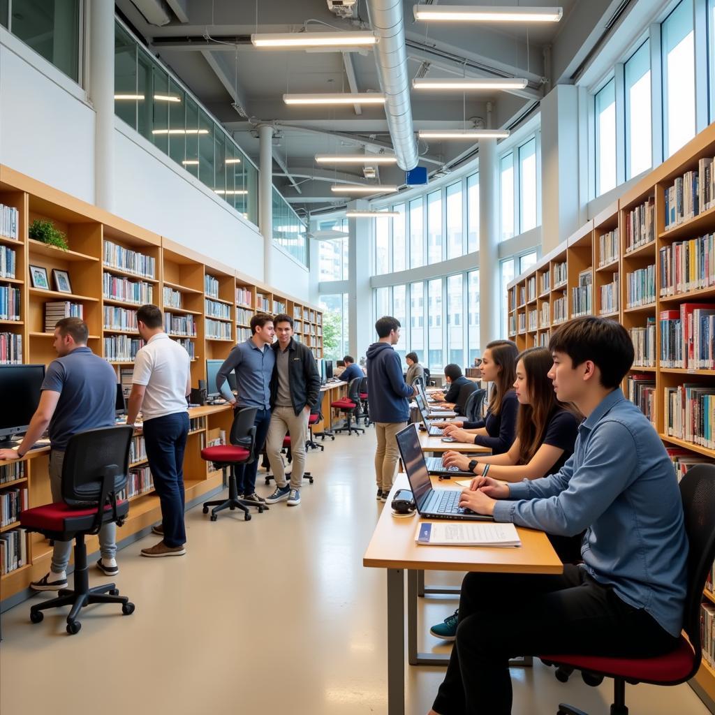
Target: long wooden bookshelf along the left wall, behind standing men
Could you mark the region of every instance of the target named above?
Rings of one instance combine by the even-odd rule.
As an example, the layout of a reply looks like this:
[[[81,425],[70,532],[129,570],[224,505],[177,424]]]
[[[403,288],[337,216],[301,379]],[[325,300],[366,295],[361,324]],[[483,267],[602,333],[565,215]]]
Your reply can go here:
[[[4,223],[7,209],[14,211]],[[51,220],[66,235],[69,250],[30,239],[28,229],[35,219]],[[2,260],[4,251],[5,258],[8,251],[13,252],[9,268]],[[46,272],[46,284],[41,277],[34,282],[30,267],[44,269],[40,273]],[[56,271],[69,278],[71,292],[56,290],[68,288]],[[187,348],[194,386],[206,379],[207,358],[225,358],[237,340],[250,336],[250,319],[257,310],[294,317],[297,339],[322,358],[322,312],[317,307],[0,165],[0,363],[47,365],[54,360],[55,317],[46,304],[59,305],[52,310],[64,310],[69,304],[72,314],[82,315],[87,322],[89,347],[113,365],[126,390],[134,355],[141,346],[135,313],[144,302],[162,308],[165,330]],[[17,347],[18,342],[20,355],[9,350],[9,345]],[[200,453],[230,431],[232,410],[220,405],[193,408],[189,417],[184,486],[186,501],[192,503],[222,487],[222,473],[211,470]],[[140,438],[137,432],[134,441]],[[16,474],[4,480],[10,468]],[[119,530],[120,540],[161,518],[159,498],[151,481],[147,482],[147,460],[140,449],[130,470],[140,474],[127,493],[131,506]],[[28,506],[49,503],[48,473],[47,448],[30,452],[19,462],[0,461],[0,496],[26,489]],[[1,526],[0,538],[18,527],[17,521]],[[26,592],[30,581],[49,569],[49,543],[36,534],[20,538],[26,539],[25,563],[0,575],[0,604],[6,599],[16,601],[13,597]],[[96,550],[97,538],[89,538],[88,545],[90,551]]]

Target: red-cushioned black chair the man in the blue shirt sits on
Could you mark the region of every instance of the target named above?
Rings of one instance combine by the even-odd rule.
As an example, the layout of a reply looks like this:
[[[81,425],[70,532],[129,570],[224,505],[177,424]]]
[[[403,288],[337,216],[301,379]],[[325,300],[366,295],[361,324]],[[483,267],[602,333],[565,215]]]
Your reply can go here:
[[[701,662],[700,604],[708,572],[715,559],[715,465],[698,464],[680,483],[685,531],[688,536],[688,592],[685,600],[683,629],[671,653],[655,658],[607,658],[556,654],[539,656],[547,665],[556,665],[568,674],[581,671],[583,680],[598,686],[603,678],[613,678],[611,715],[628,715],[626,683],[679,685],[690,680]],[[688,642],[690,641],[690,642]],[[566,677],[562,680],[568,679]],[[559,704],[558,715],[586,715],[571,705]]]

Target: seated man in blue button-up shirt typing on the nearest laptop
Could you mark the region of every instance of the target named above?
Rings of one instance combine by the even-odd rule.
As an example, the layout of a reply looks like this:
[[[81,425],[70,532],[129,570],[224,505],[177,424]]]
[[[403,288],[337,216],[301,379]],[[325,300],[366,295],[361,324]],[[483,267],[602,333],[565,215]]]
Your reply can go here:
[[[618,387],[633,363],[628,332],[612,320],[576,318],[554,332],[549,350],[556,396],[586,417],[573,455],[541,479],[477,478],[460,506],[563,536],[586,529],[583,564],[566,564],[560,576],[468,574],[455,648],[430,715],[511,713],[510,656],[638,658],[678,644],[688,556],[683,509],[656,430]]]

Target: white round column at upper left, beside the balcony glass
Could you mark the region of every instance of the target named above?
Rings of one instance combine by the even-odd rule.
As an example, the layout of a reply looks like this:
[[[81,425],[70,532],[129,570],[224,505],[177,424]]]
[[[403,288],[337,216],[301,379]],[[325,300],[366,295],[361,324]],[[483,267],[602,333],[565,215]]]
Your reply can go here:
[[[89,97],[94,106],[94,203],[114,210],[114,3],[89,7]]]

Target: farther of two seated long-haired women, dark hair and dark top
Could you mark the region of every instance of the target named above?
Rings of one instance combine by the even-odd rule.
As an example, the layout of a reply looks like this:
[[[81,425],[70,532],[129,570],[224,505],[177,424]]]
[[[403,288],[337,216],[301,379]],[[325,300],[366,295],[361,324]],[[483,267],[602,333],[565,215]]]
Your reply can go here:
[[[438,428],[445,430],[446,437],[488,447],[492,454],[503,454],[511,447],[519,408],[513,389],[518,352],[511,340],[493,340],[487,345],[482,356],[482,380],[494,383],[494,386],[486,417],[477,422],[436,423]],[[449,367],[445,368],[445,375]]]

